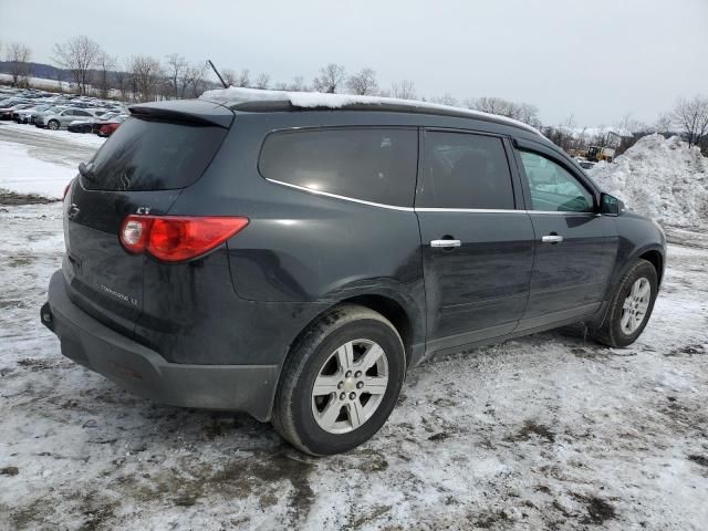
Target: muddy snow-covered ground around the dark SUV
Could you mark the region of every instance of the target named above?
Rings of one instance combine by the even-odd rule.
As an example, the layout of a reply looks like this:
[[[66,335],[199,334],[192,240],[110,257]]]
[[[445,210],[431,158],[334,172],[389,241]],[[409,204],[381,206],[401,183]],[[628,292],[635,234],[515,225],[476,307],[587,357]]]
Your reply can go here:
[[[18,138],[17,164],[56,180],[87,155]],[[0,205],[0,529],[704,530],[708,235],[668,236],[632,347],[571,330],[434,358],[371,442],[314,459],[249,417],[158,406],[63,358],[39,322],[61,207]]]

